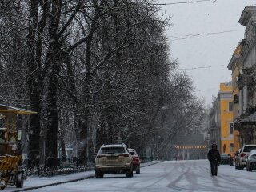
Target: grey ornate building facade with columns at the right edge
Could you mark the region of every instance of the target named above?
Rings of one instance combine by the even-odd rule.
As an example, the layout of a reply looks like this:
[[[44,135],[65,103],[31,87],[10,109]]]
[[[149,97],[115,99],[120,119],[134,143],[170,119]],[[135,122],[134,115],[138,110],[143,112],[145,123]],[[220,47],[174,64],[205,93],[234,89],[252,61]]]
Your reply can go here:
[[[256,143],[256,6],[246,6],[239,23],[246,27],[245,38],[239,44],[238,58],[231,58],[230,68],[239,62],[238,116],[234,130],[239,131],[240,145]],[[233,55],[235,57],[235,55]],[[233,70],[232,70],[233,72]],[[237,75],[237,74],[236,74]]]

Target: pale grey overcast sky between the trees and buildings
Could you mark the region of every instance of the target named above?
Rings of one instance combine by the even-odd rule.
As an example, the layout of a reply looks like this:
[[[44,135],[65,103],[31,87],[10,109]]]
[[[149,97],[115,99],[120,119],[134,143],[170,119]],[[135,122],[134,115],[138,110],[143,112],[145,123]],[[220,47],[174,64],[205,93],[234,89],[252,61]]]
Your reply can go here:
[[[195,1],[198,0],[190,0]],[[206,104],[212,102],[212,96],[217,96],[220,82],[231,81],[231,71],[227,65],[245,31],[238,20],[245,6],[255,4],[255,0],[210,0],[162,6],[173,23],[167,31],[171,57],[178,59],[179,69],[186,69],[192,76],[195,94],[205,98]],[[190,34],[207,35],[186,38]],[[181,39],[184,37],[186,39]]]

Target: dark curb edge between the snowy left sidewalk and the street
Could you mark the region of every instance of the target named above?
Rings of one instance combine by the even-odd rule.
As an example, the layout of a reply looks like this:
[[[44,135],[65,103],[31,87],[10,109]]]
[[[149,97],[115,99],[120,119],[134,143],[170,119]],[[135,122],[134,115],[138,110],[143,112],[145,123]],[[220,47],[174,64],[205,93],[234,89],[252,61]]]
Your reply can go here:
[[[153,166],[154,164],[158,164],[160,162],[163,162],[163,161],[150,163],[149,165],[144,165],[144,166],[141,166],[141,167]],[[91,175],[86,176],[85,178],[76,178],[76,179],[65,181],[65,182],[54,182],[54,183],[46,184],[46,185],[43,185],[43,186],[32,186],[32,187],[23,188],[23,189],[20,189],[20,190],[13,190],[13,192],[37,190],[37,189],[47,187],[47,186],[58,186],[58,185],[61,185],[61,184],[65,184],[65,183],[69,183],[69,182],[78,182],[78,181],[82,181],[82,180],[85,180],[85,179],[88,179],[88,178],[94,178],[94,177],[95,177],[95,175],[91,174]]]

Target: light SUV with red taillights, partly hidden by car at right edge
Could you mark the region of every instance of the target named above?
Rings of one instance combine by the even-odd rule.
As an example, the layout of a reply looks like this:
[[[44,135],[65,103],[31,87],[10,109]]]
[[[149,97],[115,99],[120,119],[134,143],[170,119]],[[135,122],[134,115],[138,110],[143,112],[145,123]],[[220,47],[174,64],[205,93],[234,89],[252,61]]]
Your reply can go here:
[[[248,154],[250,154],[251,150],[256,150],[255,144],[242,146],[240,153],[238,154],[238,170],[243,170],[243,168],[246,167]]]

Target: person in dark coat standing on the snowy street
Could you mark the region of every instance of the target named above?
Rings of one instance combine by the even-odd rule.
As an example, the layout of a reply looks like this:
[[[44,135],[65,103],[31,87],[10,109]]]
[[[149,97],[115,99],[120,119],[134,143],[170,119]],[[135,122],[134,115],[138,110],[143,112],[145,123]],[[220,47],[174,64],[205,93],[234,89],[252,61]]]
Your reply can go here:
[[[212,176],[217,176],[218,173],[218,162],[221,162],[221,155],[217,150],[217,145],[213,144],[211,150],[208,152],[208,160],[210,161],[210,171]]]

